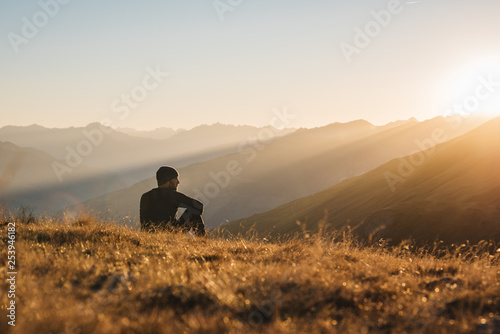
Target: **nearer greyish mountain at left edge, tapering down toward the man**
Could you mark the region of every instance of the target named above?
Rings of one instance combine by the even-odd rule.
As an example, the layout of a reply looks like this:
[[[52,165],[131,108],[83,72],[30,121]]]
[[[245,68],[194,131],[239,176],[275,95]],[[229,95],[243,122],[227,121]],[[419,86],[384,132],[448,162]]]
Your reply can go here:
[[[45,152],[0,142],[1,204],[10,209],[29,206],[55,211],[125,186],[118,175],[86,165],[72,169],[60,182],[54,162],[63,163]]]

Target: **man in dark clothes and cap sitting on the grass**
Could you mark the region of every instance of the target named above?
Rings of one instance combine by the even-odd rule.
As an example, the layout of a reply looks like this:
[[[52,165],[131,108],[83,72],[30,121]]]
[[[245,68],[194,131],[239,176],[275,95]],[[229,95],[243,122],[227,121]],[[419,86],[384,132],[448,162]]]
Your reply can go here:
[[[203,203],[177,192],[179,173],[172,167],[163,166],[156,172],[156,180],[158,188],[141,197],[141,230],[178,228],[187,232],[193,228],[196,235],[204,236]],[[178,208],[186,208],[179,220],[176,219]]]

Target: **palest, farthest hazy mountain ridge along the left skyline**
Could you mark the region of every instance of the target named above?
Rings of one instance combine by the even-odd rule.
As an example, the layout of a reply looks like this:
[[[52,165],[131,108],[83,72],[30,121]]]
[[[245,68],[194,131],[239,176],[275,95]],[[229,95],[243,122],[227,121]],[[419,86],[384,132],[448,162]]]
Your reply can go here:
[[[85,164],[123,176],[130,186],[158,168],[170,163],[176,166],[213,159],[236,149],[255,136],[261,128],[233,125],[206,125],[181,131],[165,140],[142,138],[115,131],[98,123],[82,128],[49,129],[39,125],[6,126],[0,129],[0,140],[21,147],[32,147],[66,161]],[[293,129],[276,130],[282,136]],[[66,178],[67,174],[63,175]]]

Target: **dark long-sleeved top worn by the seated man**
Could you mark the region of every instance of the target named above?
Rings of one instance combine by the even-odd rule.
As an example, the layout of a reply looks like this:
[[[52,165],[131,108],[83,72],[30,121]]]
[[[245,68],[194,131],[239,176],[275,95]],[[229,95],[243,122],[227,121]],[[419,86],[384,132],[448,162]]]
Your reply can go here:
[[[203,203],[176,190],[155,188],[148,191],[141,197],[141,228],[151,230],[166,228],[169,224],[178,225],[175,219],[178,208],[186,208],[183,216],[200,216],[203,213]]]

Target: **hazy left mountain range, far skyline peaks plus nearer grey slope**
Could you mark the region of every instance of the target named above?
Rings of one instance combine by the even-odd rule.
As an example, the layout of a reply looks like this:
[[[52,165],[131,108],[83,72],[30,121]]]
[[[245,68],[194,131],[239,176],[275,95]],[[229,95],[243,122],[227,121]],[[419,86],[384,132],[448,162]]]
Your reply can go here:
[[[5,126],[0,129],[1,204],[44,212],[79,207],[154,175],[158,166],[185,166],[234,152],[266,129],[204,125],[160,140],[98,123],[63,129]],[[275,138],[293,131],[274,129],[272,134]]]

